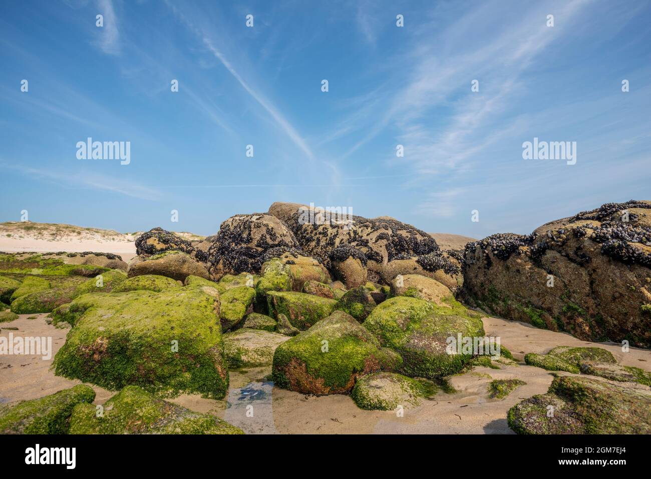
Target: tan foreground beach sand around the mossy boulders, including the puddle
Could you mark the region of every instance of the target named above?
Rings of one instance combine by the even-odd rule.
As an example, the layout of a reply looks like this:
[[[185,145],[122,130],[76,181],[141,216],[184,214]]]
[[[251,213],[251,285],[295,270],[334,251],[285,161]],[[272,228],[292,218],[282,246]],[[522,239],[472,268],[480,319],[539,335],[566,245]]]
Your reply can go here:
[[[31,316],[36,318],[28,319]],[[48,325],[47,316],[23,314],[14,322],[0,323],[0,335],[51,336],[54,357],[68,330]],[[18,330],[8,329],[14,327]],[[651,370],[648,350],[631,348],[624,353],[615,344],[585,342],[498,318],[484,318],[484,329],[488,336],[499,336],[501,344],[519,359],[524,353],[546,353],[555,346],[599,346],[611,351],[621,364]],[[0,402],[34,399],[81,383],[54,376],[49,370],[51,363],[52,359],[35,356],[0,356]],[[184,395],[173,402],[225,418],[247,433],[512,433],[506,424],[508,409],[520,400],[546,392],[553,377],[546,370],[525,364],[502,367],[475,368],[452,377],[450,382],[458,392],[439,392],[434,400],[405,409],[404,417],[396,417],[394,411],[364,411],[349,396],[305,396],[273,387],[265,382],[270,366],[230,372],[230,391],[225,400]],[[511,378],[522,379],[527,385],[503,400],[488,397],[492,379]],[[96,404],[103,404],[114,394],[92,387],[97,392]]]

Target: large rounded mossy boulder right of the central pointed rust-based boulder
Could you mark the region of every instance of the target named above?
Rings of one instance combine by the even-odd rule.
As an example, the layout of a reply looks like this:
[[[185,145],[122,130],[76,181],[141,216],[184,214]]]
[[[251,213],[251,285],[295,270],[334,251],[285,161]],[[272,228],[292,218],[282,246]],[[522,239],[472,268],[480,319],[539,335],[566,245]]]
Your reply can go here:
[[[480,315],[452,298],[437,306],[424,299],[398,296],[376,307],[363,323],[382,346],[394,349],[403,359],[400,370],[411,377],[433,379],[459,372],[471,359],[467,354],[447,352],[450,337],[482,337]]]

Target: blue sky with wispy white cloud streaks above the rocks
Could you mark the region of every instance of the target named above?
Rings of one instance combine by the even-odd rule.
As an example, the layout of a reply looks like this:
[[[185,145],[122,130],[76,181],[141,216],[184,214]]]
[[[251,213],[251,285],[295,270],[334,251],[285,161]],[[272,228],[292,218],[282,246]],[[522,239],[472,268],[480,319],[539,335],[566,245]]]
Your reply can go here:
[[[651,199],[650,21],[646,1],[5,1],[0,221],[214,234],[290,201],[482,238]],[[130,164],[77,159],[87,137]],[[577,163],[523,159],[534,137]]]

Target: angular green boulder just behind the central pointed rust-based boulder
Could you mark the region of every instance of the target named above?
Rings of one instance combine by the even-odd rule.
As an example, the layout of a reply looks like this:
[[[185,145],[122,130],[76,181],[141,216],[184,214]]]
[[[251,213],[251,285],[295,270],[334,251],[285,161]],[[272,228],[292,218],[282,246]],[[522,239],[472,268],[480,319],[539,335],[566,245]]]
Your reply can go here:
[[[327,318],[335,310],[337,301],[294,291],[270,291],[267,293],[267,305],[274,318],[284,314],[292,326],[305,330],[318,320]]]

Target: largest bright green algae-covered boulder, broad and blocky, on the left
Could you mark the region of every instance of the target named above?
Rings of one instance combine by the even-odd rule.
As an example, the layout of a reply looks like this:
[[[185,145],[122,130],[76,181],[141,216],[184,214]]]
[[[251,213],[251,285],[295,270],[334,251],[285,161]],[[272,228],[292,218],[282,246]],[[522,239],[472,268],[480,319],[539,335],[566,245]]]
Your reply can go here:
[[[55,374],[110,390],[221,399],[229,375],[218,318],[219,294],[206,286],[81,295],[68,308],[74,326]]]

